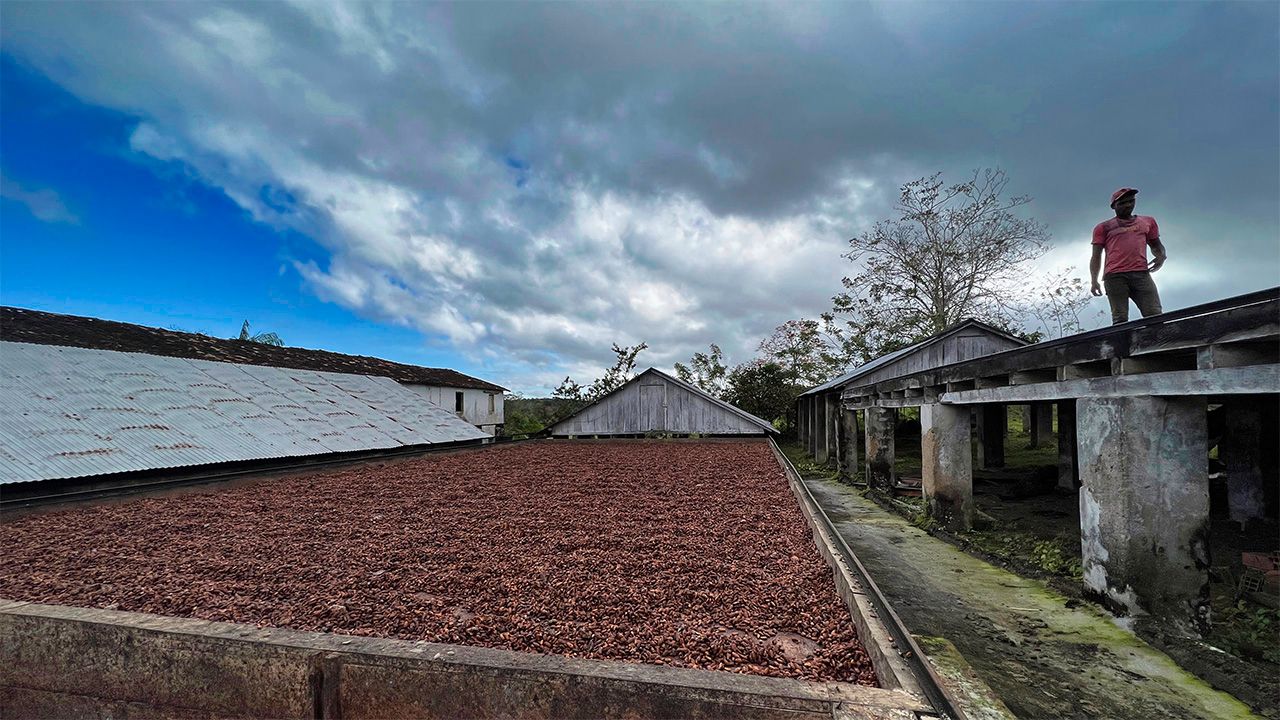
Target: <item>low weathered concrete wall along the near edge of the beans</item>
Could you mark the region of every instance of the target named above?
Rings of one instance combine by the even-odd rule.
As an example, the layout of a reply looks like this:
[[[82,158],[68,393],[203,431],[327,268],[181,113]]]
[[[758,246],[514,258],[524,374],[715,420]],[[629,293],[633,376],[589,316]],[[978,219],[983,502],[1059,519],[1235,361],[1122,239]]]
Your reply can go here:
[[[864,641],[865,642],[865,641]],[[0,601],[4,717],[915,717],[918,697]]]

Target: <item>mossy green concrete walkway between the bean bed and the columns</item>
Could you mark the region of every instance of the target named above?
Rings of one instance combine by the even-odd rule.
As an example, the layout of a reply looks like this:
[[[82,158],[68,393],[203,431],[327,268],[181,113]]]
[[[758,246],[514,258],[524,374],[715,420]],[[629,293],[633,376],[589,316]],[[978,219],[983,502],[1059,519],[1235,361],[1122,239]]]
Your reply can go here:
[[[954,643],[1019,717],[1254,717],[1093,606],[1070,609],[854,488],[805,483],[908,628]]]

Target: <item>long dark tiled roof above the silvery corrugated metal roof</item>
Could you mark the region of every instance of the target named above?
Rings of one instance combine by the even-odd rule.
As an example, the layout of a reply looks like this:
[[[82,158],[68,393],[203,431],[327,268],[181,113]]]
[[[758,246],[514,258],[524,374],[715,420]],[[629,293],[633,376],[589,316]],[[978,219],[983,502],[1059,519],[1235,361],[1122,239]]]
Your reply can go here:
[[[296,370],[379,375],[396,382],[503,392],[504,387],[445,368],[406,365],[365,355],[328,350],[278,347],[261,342],[223,340],[206,334],[148,328],[132,323],[61,315],[23,307],[0,306],[0,340],[36,345],[61,345],[120,352],[146,352],[166,357],[191,357],[242,365],[266,365]]]

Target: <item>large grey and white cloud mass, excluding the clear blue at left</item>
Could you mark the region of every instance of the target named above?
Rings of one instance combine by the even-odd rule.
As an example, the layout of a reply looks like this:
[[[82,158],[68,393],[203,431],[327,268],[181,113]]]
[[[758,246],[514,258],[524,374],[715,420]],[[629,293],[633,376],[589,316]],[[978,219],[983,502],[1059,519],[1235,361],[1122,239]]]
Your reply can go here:
[[[319,297],[513,387],[591,375],[612,342],[646,341],[660,366],[709,342],[746,360],[829,307],[854,272],[845,241],[892,214],[901,182],[978,163],[1038,196],[1059,234],[1046,269],[1087,272],[1101,218],[1082,209],[1123,172],[1184,215],[1251,209],[1242,273],[1276,274],[1276,73],[1236,72],[1275,56],[1272,8],[1134,10],[1172,38],[1137,88],[1111,82],[1132,49],[1094,42],[1100,17],[1123,24],[1112,9],[1002,10],[1028,32],[897,3],[9,4],[0,40],[141,118],[137,152],[315,238],[326,258],[289,266]],[[1093,109],[1132,92],[1144,113],[1102,132]],[[1102,137],[1125,138],[1123,168]],[[1201,217],[1169,227],[1245,227]],[[1190,266],[1166,269],[1175,296],[1208,292]]]

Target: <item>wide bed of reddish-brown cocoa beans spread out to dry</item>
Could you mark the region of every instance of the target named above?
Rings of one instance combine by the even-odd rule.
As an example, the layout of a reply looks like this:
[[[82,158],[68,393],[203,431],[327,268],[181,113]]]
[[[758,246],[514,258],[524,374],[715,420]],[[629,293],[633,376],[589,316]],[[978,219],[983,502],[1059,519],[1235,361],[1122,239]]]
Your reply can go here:
[[[876,684],[764,442],[538,442],[0,527],[0,596]]]

